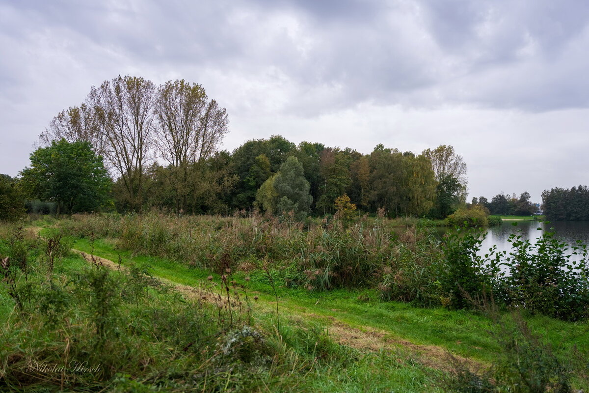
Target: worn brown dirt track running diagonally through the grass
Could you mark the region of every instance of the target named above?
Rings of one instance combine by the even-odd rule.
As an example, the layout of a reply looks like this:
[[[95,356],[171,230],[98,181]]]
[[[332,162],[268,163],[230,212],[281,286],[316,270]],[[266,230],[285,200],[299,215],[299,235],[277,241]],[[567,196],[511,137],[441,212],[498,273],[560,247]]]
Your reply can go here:
[[[114,270],[125,270],[124,266],[121,266],[118,263],[113,262],[112,260],[105,259],[99,256],[92,256],[80,250],[72,250],[74,252],[80,253],[86,260],[88,260],[88,262],[98,262]],[[170,285],[172,288],[178,290],[178,292],[182,293],[189,299],[197,300],[199,302],[208,302],[221,307],[227,305],[227,300],[222,298],[219,295],[219,293],[214,292],[214,290],[212,289],[214,287],[214,284],[211,284],[209,289],[205,289],[196,288],[188,285],[181,285],[171,280],[167,280],[157,276],[155,278],[157,278],[161,282],[166,283],[167,285]],[[250,292],[250,297],[254,295],[255,293]],[[272,312],[274,307],[275,303],[260,302],[256,304],[256,309],[263,309],[264,311],[268,312]],[[327,325],[329,325],[327,327],[327,332],[329,336],[339,344],[351,346],[352,348],[359,349],[363,352],[385,351],[391,352],[393,354],[398,354],[399,349],[401,349],[401,352],[408,352],[409,356],[421,362],[425,366],[435,369],[441,369],[444,371],[448,371],[448,369],[450,369],[448,351],[445,348],[442,348],[441,346],[417,345],[403,339],[391,338],[391,335],[388,332],[380,329],[375,329],[370,326],[360,326],[360,328],[355,328],[353,326],[348,325],[347,323],[340,321],[334,316],[322,316],[314,313],[309,313],[306,311],[296,312],[292,310],[282,310],[280,312],[283,313],[283,315],[286,314],[290,318],[294,319],[308,320],[309,318],[313,318],[329,321],[327,322]],[[457,355],[454,355],[454,358],[464,362],[469,366],[469,368],[472,369],[485,367],[484,364],[472,361],[472,359],[466,359]]]

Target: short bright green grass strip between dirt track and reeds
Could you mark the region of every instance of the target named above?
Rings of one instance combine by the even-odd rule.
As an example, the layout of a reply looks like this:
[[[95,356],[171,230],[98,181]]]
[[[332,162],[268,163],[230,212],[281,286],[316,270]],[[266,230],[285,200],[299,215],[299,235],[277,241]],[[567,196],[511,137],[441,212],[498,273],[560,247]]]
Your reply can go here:
[[[77,249],[91,252],[87,239],[76,240]],[[130,262],[148,263],[153,274],[171,282],[198,286],[206,282],[210,272],[190,269],[181,263],[158,257],[133,256],[119,252],[104,240],[94,244],[95,255],[117,261],[121,255],[123,265]],[[245,283],[243,273],[236,275]],[[219,282],[218,276],[215,280]],[[259,293],[260,301],[273,302],[273,289],[263,282],[250,281],[250,290]],[[286,313],[302,314],[306,318],[329,325],[330,318],[364,329],[382,329],[391,338],[402,338],[418,345],[436,345],[456,354],[490,362],[497,357],[499,348],[489,335],[492,323],[488,318],[469,311],[450,311],[441,307],[418,308],[402,302],[379,302],[375,290],[337,289],[329,292],[308,292],[304,289],[277,288],[279,308]],[[360,296],[362,295],[362,296]],[[368,298],[368,302],[359,300]],[[312,316],[308,316],[312,314]],[[564,322],[542,316],[528,318],[532,329],[550,342],[557,351],[577,346],[589,351],[589,323]]]

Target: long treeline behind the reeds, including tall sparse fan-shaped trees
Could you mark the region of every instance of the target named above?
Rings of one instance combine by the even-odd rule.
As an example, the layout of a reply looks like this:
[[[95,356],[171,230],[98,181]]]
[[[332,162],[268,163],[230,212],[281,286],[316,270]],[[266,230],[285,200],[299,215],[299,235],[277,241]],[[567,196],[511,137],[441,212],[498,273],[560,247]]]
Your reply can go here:
[[[59,113],[40,139],[47,147],[90,144],[114,179],[120,212],[328,214],[346,196],[363,212],[444,218],[465,202],[466,164],[452,146],[414,154],[379,144],[361,154],[272,136],[230,153],[218,150],[228,123],[201,85],[119,76]]]

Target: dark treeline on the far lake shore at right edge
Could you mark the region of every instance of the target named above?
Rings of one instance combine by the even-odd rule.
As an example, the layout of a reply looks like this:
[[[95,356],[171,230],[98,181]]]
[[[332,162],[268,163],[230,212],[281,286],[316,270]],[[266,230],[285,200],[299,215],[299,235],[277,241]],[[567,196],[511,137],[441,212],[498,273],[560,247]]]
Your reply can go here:
[[[561,189],[554,187],[542,193],[544,214],[548,220],[589,220],[589,188]]]

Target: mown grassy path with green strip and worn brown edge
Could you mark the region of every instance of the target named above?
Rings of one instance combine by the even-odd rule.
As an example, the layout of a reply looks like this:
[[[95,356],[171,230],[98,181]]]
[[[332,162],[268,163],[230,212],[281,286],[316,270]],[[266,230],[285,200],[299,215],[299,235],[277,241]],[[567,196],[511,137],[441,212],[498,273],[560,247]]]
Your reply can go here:
[[[167,280],[177,288],[204,288],[210,272],[190,269],[181,263],[157,258],[134,256],[131,252],[115,250],[112,242],[97,240],[94,247],[87,239],[75,241],[75,248],[121,265],[147,263],[154,276]],[[275,307],[273,288],[262,279],[244,280],[238,273],[236,280],[247,285],[259,296],[257,312],[270,313]],[[219,277],[214,276],[219,282]],[[415,308],[400,302],[379,302],[372,290],[332,290],[309,293],[302,289],[276,288],[279,312],[289,318],[302,318],[327,326],[341,344],[379,351],[397,349],[407,351],[419,361],[434,368],[444,368],[445,351],[479,363],[491,362],[498,354],[489,329],[491,322],[476,313],[449,311],[443,308]],[[589,349],[589,323],[571,323],[551,318],[529,318],[532,329],[557,351],[574,345]]]

